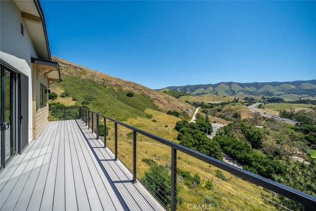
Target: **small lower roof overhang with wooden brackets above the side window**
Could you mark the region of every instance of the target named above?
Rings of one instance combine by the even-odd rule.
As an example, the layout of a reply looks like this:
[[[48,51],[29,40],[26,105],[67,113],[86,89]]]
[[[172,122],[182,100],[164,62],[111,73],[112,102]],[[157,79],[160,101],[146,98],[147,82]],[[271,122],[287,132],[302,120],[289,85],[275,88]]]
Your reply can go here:
[[[40,75],[44,74],[50,84],[60,82],[60,70],[58,62],[31,57],[31,62],[40,67]]]

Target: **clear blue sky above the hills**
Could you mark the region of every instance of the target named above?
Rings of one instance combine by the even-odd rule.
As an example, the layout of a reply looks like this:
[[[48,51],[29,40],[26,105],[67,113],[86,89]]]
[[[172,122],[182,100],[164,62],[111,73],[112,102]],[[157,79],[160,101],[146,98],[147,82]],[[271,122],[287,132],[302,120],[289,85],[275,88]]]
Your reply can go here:
[[[40,1],[51,54],[150,88],[316,79],[316,1]]]

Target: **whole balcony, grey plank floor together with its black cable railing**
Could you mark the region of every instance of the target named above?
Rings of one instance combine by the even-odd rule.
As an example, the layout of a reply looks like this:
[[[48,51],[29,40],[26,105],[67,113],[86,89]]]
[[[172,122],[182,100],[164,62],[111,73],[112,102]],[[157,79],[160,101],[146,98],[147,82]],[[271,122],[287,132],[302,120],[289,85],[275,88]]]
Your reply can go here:
[[[50,120],[62,121],[0,172],[1,210],[289,210],[276,195],[316,206],[313,196],[84,108],[50,108]],[[186,195],[179,174],[195,167],[202,191]],[[212,176],[219,170],[225,180]]]

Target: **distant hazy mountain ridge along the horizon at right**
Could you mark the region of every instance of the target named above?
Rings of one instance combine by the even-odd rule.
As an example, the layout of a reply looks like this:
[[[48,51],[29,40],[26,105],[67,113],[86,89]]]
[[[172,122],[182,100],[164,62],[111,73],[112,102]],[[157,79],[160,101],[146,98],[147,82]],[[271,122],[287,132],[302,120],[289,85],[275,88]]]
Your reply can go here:
[[[316,80],[293,82],[221,82],[217,84],[197,84],[168,86],[170,90],[191,95],[213,94],[217,96],[279,96],[283,98],[312,97],[316,95]]]

